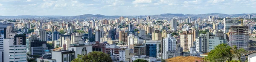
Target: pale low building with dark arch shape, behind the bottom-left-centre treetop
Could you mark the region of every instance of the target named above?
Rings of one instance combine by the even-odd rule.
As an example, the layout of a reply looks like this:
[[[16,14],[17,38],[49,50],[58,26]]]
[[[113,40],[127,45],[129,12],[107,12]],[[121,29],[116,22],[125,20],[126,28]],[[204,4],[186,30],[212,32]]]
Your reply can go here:
[[[77,55],[87,55],[93,51],[93,46],[70,46],[68,51],[75,51],[75,58],[78,58]]]

